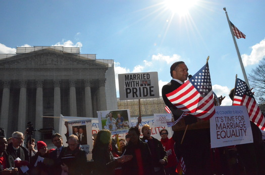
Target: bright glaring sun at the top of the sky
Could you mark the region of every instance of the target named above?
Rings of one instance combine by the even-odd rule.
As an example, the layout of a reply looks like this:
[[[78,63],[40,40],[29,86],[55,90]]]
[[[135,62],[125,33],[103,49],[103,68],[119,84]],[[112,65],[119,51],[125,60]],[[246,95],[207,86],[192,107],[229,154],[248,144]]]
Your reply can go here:
[[[198,0],[165,0],[165,6],[173,14],[185,16],[189,13],[190,8],[196,5]]]

